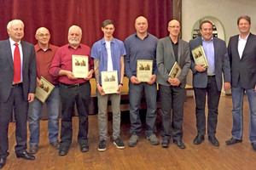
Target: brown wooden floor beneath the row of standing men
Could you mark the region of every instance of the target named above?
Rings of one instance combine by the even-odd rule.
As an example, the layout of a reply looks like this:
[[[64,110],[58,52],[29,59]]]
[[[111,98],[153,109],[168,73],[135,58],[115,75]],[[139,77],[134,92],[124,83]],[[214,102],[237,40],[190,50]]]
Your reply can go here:
[[[140,138],[136,147],[130,148],[127,141],[129,134],[129,116],[122,114],[121,138],[125,141],[125,150],[119,150],[108,138],[107,150],[99,152],[97,117],[89,116],[89,144],[90,150],[82,153],[77,143],[78,117],[73,117],[73,143],[67,156],[59,156],[58,151],[49,145],[47,133],[47,121],[41,122],[41,135],[39,151],[35,155],[36,161],[25,161],[15,157],[15,123],[9,126],[9,152],[6,165],[3,170],[83,170],[83,169],[106,169],[106,170],[164,170],[164,169],[255,169],[256,152],[252,150],[248,139],[248,104],[244,103],[244,135],[241,144],[227,146],[224,142],[230,139],[232,127],[231,97],[221,97],[219,104],[217,138],[220,146],[214,147],[206,140],[200,144],[193,144],[196,135],[195,128],[195,101],[188,98],[184,105],[183,142],[187,148],[180,150],[173,143],[164,149],[160,145],[153,146],[145,139]],[[160,116],[157,118],[157,136],[160,139]],[[108,121],[108,136],[112,133],[112,123]],[[144,131],[143,131],[144,132]],[[207,137],[207,136],[206,136]],[[160,139],[160,141],[162,141]]]

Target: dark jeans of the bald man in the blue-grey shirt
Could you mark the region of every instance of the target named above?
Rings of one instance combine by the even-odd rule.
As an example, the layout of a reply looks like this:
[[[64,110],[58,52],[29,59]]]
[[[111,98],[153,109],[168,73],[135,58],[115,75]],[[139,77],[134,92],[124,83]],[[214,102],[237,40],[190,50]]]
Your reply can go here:
[[[146,115],[146,136],[154,134],[154,122],[156,119],[156,83],[148,84],[141,82],[133,84],[129,82],[129,102],[130,102],[130,121],[131,121],[131,134],[139,134],[142,131],[142,122],[139,115],[139,107],[141,104],[142,94],[145,94],[146,103],[148,106]]]

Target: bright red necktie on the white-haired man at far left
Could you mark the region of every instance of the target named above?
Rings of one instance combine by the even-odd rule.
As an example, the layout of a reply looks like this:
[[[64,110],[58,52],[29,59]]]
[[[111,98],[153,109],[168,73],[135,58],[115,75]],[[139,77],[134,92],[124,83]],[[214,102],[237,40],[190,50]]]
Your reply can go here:
[[[14,56],[14,69],[15,69],[15,74],[14,74],[14,82],[18,83],[20,82],[20,49],[18,46],[18,43],[15,43],[15,56]]]

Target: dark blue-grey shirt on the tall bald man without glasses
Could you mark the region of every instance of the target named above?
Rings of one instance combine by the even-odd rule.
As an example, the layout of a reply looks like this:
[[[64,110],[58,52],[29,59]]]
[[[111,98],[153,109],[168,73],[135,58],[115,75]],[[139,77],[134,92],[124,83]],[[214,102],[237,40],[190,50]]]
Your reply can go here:
[[[137,33],[125,39],[125,75],[129,79],[137,76],[137,59],[153,60],[153,74],[157,75],[156,46],[158,39],[152,34],[147,35],[143,40],[137,37]]]

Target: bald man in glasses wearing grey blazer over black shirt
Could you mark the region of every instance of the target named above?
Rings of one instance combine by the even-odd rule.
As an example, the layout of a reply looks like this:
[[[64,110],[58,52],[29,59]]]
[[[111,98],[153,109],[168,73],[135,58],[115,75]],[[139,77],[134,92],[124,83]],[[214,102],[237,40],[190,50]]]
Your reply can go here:
[[[162,147],[167,148],[170,139],[177,147],[184,149],[183,144],[183,104],[185,97],[186,77],[190,68],[189,43],[178,38],[180,24],[171,20],[168,24],[168,37],[158,41],[156,50],[156,63],[158,74],[156,82],[160,88],[160,112],[162,116],[163,138]],[[181,74],[176,78],[169,77],[172,66],[177,62],[182,68]],[[171,123],[172,111],[172,123]]]

